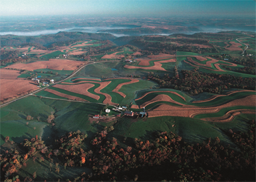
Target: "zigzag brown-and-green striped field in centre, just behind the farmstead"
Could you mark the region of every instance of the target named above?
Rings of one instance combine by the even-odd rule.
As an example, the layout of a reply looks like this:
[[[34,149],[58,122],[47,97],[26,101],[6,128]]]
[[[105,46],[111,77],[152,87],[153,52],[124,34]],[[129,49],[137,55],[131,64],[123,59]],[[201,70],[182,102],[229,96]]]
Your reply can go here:
[[[120,103],[123,103],[123,101],[128,104],[134,99],[134,97],[130,96],[131,91],[129,89],[122,89],[123,87],[134,87],[134,91],[132,91],[132,95],[134,95],[136,91],[140,89],[149,89],[152,85],[154,84],[151,81],[130,78],[101,80],[75,77],[74,79],[49,87],[48,89],[45,89],[45,91],[37,93],[37,95],[53,97],[56,99],[67,98],[76,101],[119,105]],[[128,95],[127,98],[126,95]]]

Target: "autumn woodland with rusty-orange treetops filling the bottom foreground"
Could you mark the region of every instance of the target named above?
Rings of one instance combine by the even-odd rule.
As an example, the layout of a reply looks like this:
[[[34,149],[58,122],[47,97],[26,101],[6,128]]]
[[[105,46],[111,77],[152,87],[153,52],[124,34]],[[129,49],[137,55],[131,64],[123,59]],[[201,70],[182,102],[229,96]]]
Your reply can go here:
[[[69,132],[56,141],[52,148],[38,137],[25,140],[23,154],[18,150],[0,155],[0,175],[6,182],[19,182],[17,171],[37,152],[66,166],[86,166],[92,173],[82,173],[74,181],[254,181],[256,179],[256,129],[249,121],[247,132],[223,130],[237,146],[223,146],[219,138],[207,139],[201,144],[188,144],[173,132],[154,132],[153,140],[135,138],[133,144],[122,148],[116,138],[108,137],[108,128],[98,132],[91,141],[91,150],[85,152],[87,135]],[[110,132],[111,130],[109,130]],[[41,159],[41,160],[43,160]],[[59,169],[59,170],[58,170]],[[35,179],[37,174],[24,180]]]

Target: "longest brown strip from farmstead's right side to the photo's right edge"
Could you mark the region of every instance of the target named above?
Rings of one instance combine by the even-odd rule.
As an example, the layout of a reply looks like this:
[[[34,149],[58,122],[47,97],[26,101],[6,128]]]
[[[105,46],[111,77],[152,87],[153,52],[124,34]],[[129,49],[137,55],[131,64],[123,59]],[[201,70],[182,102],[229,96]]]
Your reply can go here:
[[[163,104],[158,106],[156,109],[153,109],[152,111],[148,111],[148,116],[184,116],[193,118],[193,116],[197,114],[217,113],[218,111],[220,111],[220,109],[235,106],[256,107],[256,95],[249,95],[242,99],[235,99],[233,101],[230,101],[229,103],[213,107],[176,107],[172,105]]]

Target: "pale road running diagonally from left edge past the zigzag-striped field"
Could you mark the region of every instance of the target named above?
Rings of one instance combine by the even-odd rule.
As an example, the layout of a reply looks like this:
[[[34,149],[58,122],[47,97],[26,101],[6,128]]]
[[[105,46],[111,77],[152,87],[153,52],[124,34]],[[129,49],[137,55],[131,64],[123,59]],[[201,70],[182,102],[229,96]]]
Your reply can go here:
[[[121,61],[121,60],[112,60],[112,61],[104,61],[104,62],[120,62],[120,61]],[[63,82],[63,81],[66,81],[67,79],[70,79],[70,78],[73,77],[76,73],[78,73],[78,71],[80,71],[82,68],[85,68],[85,67],[88,66],[88,65],[97,64],[97,63],[102,63],[102,62],[91,62],[91,63],[89,63],[89,64],[86,64],[86,65],[82,66],[81,68],[77,69],[76,71],[74,71],[71,75],[69,75],[68,77],[64,78],[63,80],[55,82],[55,84],[61,83],[61,82]],[[54,85],[55,85],[55,84],[54,84]],[[48,87],[51,87],[51,86],[52,86],[52,85],[49,85]],[[43,88],[41,88],[41,89],[37,89],[36,91],[33,91],[33,92],[31,92],[31,93],[29,93],[29,94],[27,94],[27,95],[24,95],[24,96],[22,96],[22,97],[19,97],[19,98],[17,98],[17,99],[14,99],[13,101],[9,101],[8,103],[4,103],[3,105],[0,105],[0,107],[5,107],[6,105],[9,105],[10,103],[14,103],[15,101],[18,101],[19,99],[23,99],[23,98],[25,98],[25,97],[28,97],[29,95],[35,95],[35,93],[38,93],[39,91],[43,91],[44,89],[47,89],[48,87],[43,87]]]

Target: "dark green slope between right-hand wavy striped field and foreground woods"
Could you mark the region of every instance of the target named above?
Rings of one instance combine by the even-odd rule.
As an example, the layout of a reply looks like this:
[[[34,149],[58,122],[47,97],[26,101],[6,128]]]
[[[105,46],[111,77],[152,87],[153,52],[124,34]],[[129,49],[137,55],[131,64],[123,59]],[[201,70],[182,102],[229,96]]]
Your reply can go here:
[[[251,115],[252,116],[252,115]],[[249,118],[251,118],[249,115]],[[197,118],[185,118],[177,116],[161,116],[144,119],[128,119],[122,118],[115,125],[115,130],[110,134],[121,141],[124,137],[127,142],[132,143],[133,138],[141,140],[154,140],[154,132],[174,132],[182,136],[183,140],[192,144],[201,143],[207,138],[219,137],[225,143],[234,147],[229,136],[223,130],[232,129],[233,131],[246,131],[248,124],[243,117],[245,114],[237,116],[231,122],[206,122]],[[255,118],[255,116],[253,116]],[[129,140],[130,138],[130,140]],[[127,144],[126,144],[127,145]]]

